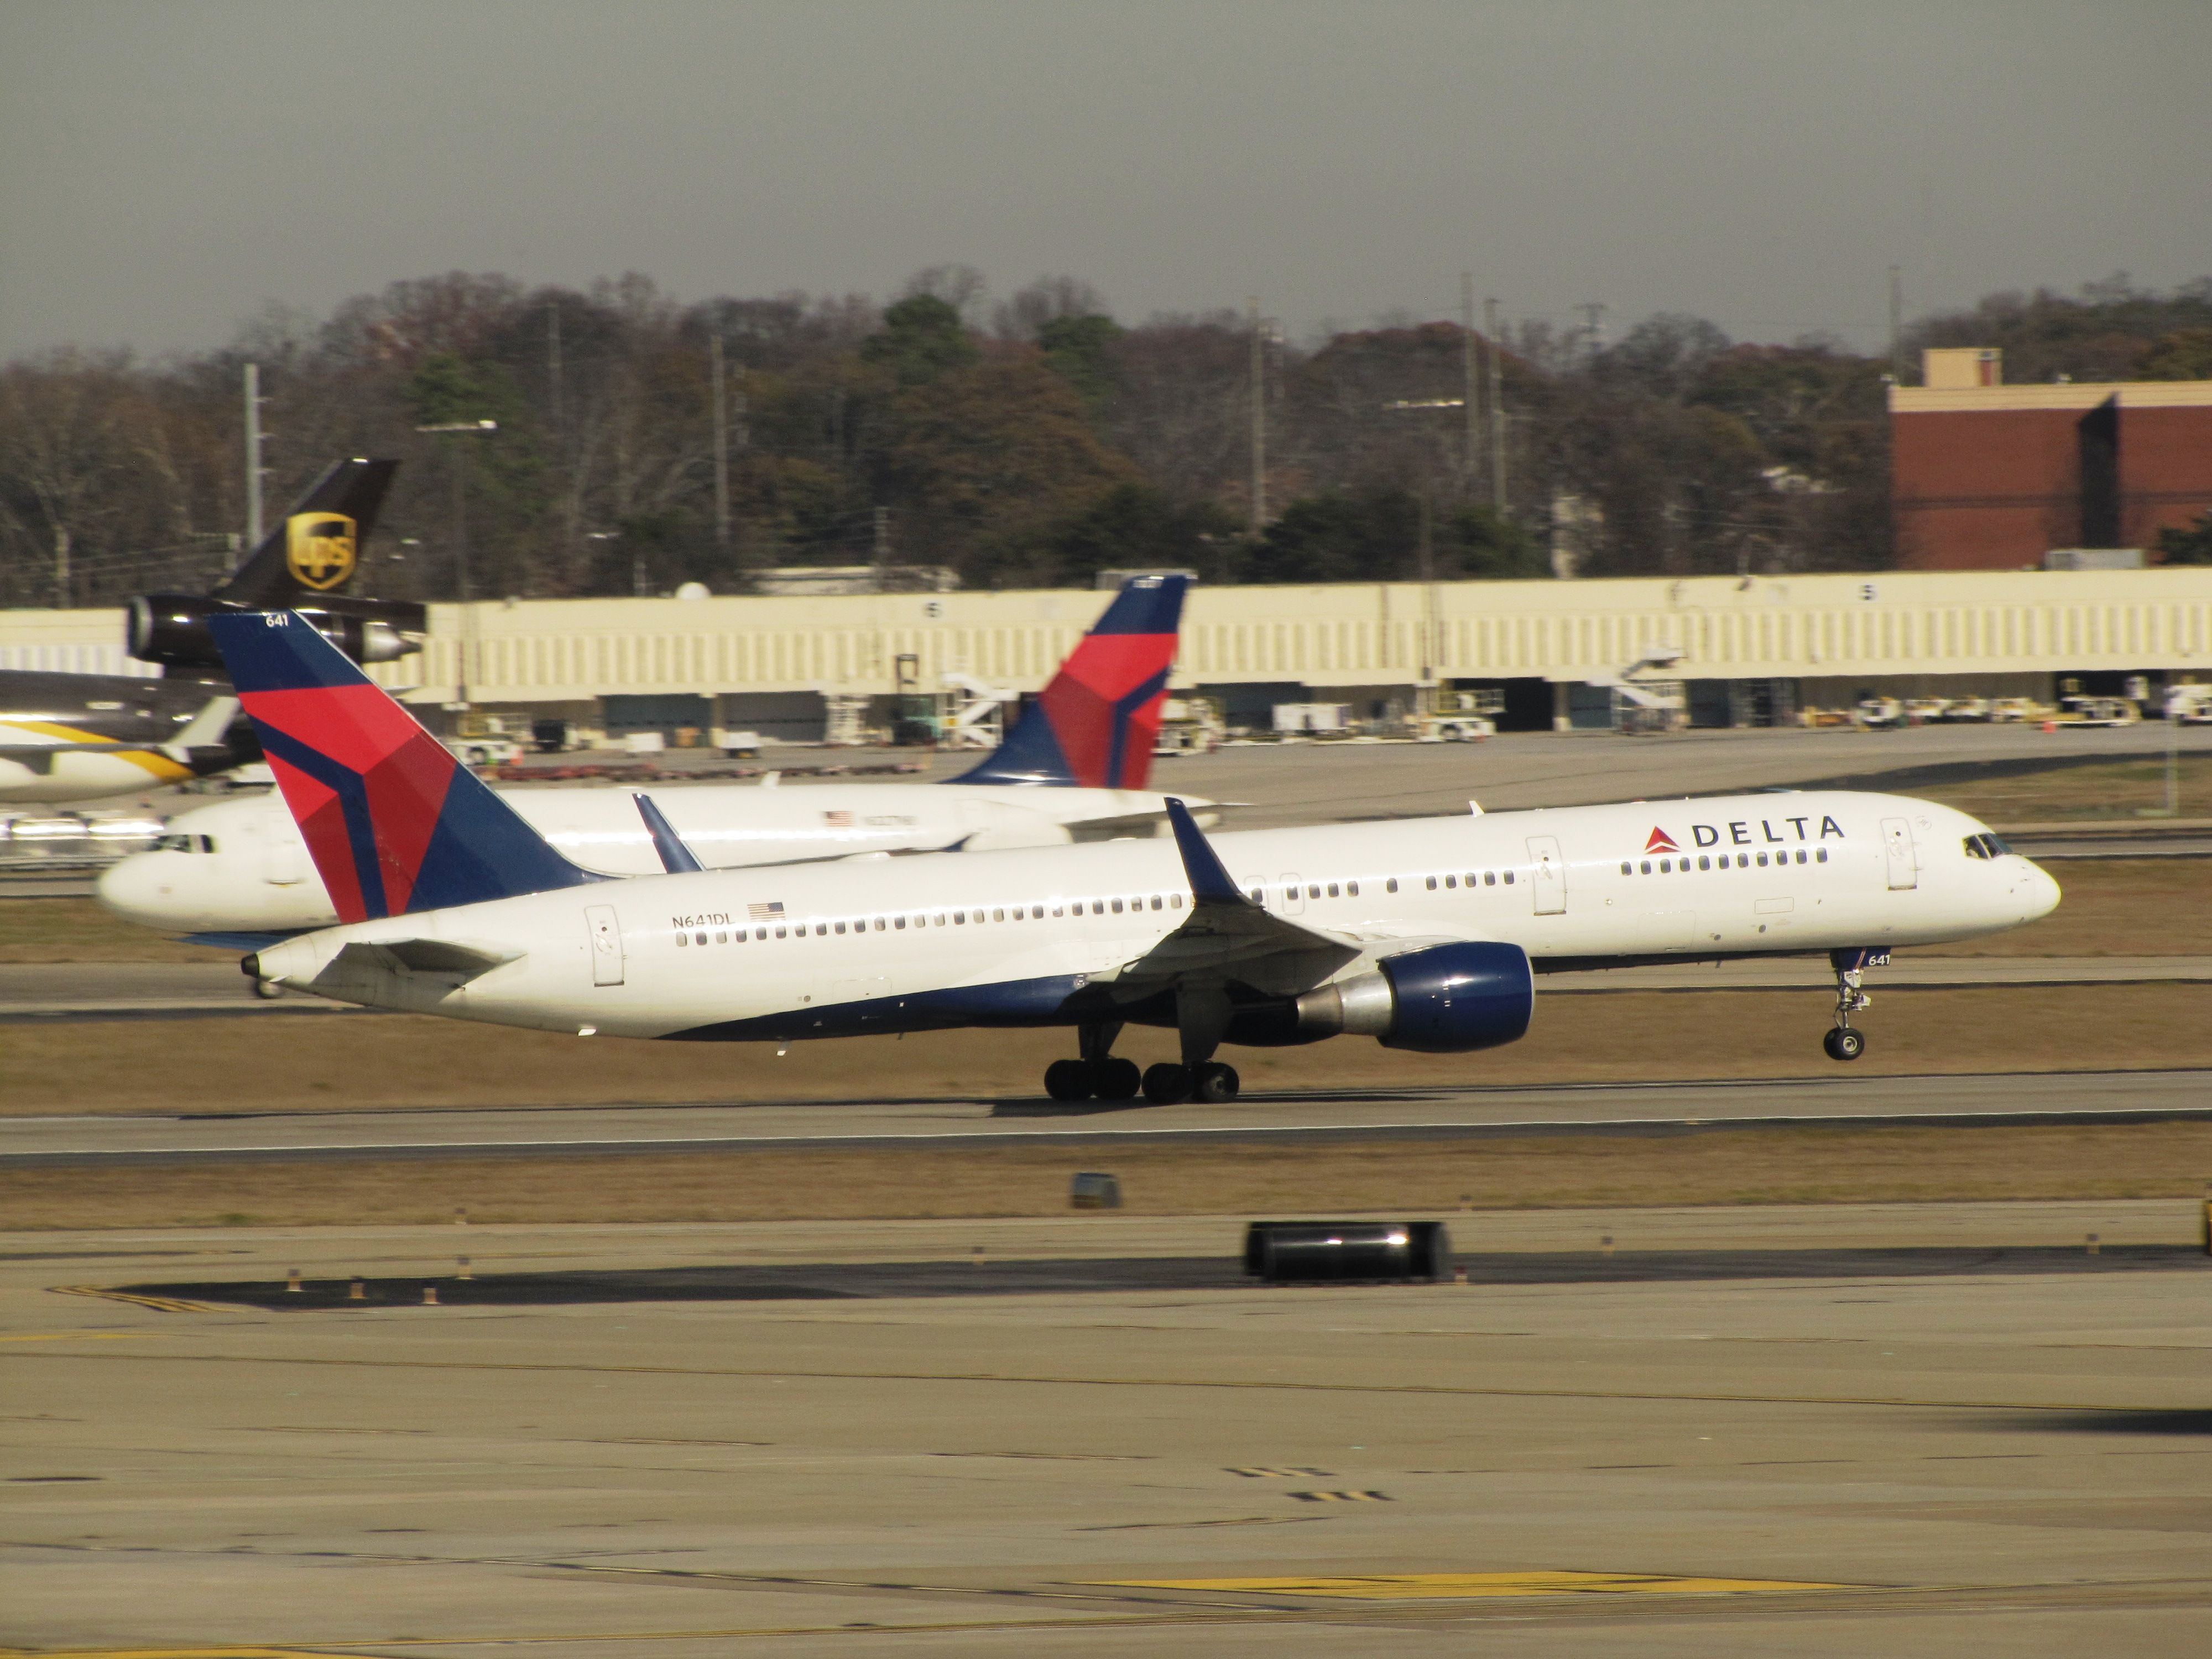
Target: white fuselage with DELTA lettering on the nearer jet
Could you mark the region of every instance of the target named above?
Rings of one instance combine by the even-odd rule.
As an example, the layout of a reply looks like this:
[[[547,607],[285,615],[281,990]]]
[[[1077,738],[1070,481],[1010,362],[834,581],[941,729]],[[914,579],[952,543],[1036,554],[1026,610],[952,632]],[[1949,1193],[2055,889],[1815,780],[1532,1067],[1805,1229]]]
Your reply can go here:
[[[1520,945],[1537,969],[1933,945],[2048,914],[2057,885],[1975,856],[1966,814],[1887,794],[1754,794],[1212,838],[1237,885],[1363,956]],[[1679,852],[1646,852],[1672,841]],[[259,973],[369,1006],[635,1037],[810,1037],[1053,1024],[1071,991],[1144,982],[1190,918],[1172,841],[595,883],[334,927]],[[338,953],[449,940],[502,960],[442,975]],[[1234,978],[1234,975],[1232,975]],[[1133,991],[1135,995],[1135,991]],[[869,1009],[854,1015],[854,1009]]]

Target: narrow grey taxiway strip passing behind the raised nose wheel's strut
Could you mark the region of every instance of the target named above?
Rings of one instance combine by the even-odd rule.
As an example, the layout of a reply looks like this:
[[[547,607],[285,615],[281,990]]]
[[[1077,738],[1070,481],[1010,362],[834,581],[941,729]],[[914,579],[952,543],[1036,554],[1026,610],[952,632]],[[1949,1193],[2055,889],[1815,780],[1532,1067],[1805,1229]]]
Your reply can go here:
[[[2152,984],[2212,980],[2212,956],[1898,956],[1885,989],[1969,984]],[[1546,973],[1537,995],[1584,991],[1798,991],[1834,984],[1825,958],[1683,962]],[[312,995],[261,1000],[234,962],[0,962],[0,1024],[22,1020],[234,1020],[361,1013]]]

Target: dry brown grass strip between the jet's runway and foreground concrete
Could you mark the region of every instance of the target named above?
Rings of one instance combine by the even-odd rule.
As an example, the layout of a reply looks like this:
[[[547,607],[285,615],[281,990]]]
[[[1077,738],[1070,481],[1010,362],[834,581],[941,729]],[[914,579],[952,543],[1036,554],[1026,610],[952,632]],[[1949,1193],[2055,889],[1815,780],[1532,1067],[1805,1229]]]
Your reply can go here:
[[[1354,1146],[456,1157],[4,1170],[9,1228],[794,1221],[1062,1214],[1104,1161],[1139,1214],[2188,1197],[2212,1126],[1705,1130]]]

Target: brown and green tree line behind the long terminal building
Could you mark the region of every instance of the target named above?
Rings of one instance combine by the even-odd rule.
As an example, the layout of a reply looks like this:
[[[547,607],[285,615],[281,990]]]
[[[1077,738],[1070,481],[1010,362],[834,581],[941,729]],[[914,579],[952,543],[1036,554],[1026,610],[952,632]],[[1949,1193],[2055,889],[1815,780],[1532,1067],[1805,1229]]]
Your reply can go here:
[[[1922,345],[2000,345],[2015,380],[2212,378],[2212,279],[1993,294],[1916,323],[1898,363]],[[743,591],[763,566],[874,560],[978,588],[1130,566],[1347,582],[1891,562],[1898,363],[1832,338],[1752,345],[1661,314],[1615,341],[1396,316],[1292,343],[1234,310],[1124,325],[1068,276],[993,301],[958,265],[889,303],[453,272],[327,319],[272,312],[199,356],[0,367],[0,604],[115,604],[228,568],[246,363],[270,515],[338,456],[407,462],[365,549],[363,591],[389,597],[453,597],[462,524],[478,597]]]

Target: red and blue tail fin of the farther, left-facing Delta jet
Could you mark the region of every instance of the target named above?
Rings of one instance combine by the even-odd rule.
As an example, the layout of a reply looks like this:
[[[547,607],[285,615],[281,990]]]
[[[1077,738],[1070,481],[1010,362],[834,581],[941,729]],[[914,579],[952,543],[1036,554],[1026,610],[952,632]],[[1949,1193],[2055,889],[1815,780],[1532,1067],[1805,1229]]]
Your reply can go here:
[[[1141,790],[1168,697],[1183,575],[1135,575],[991,759],[951,783]]]

